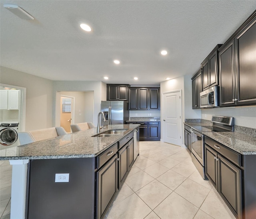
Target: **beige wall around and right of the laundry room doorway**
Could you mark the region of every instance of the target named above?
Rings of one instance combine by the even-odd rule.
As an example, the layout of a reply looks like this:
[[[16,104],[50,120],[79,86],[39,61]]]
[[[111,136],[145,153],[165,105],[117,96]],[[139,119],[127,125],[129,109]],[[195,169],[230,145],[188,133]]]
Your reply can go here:
[[[53,81],[0,66],[1,83],[26,88],[25,130],[52,127]]]

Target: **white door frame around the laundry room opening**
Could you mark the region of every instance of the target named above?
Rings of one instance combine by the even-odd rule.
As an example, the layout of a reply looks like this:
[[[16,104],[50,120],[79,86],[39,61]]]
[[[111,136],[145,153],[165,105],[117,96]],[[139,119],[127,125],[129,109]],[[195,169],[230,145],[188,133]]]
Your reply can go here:
[[[0,86],[2,87],[12,87],[18,90],[21,90],[20,94],[19,94],[19,99],[20,99],[20,103],[19,103],[19,115],[18,115],[18,120],[20,122],[20,130],[19,132],[25,132],[25,125],[26,125],[26,87],[18,87],[18,86],[14,86],[14,85],[7,85],[7,84],[2,84],[0,83]]]

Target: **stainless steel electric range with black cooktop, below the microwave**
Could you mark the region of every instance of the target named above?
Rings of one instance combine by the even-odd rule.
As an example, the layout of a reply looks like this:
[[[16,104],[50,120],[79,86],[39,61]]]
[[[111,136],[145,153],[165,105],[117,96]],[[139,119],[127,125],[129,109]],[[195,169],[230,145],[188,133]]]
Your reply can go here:
[[[193,126],[191,131],[192,162],[205,179],[204,161],[204,132],[232,132],[234,131],[234,117],[212,116],[212,126]]]

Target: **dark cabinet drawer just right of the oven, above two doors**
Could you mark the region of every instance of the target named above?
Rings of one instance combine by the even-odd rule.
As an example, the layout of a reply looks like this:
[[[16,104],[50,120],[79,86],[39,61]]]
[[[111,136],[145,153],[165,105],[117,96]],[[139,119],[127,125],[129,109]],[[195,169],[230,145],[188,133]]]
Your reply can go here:
[[[205,136],[204,138],[205,144],[210,146],[212,149],[214,149],[218,154],[221,154],[224,156],[226,159],[230,160],[234,164],[241,166],[241,154],[238,154],[234,150],[224,146],[223,144],[220,144],[219,142],[208,138]]]

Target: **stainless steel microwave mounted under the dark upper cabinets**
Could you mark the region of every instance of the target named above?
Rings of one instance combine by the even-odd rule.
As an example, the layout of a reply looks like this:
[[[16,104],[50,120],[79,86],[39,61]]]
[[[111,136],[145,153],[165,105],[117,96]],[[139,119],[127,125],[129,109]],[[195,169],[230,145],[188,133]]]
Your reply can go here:
[[[200,92],[200,108],[219,107],[219,86]]]

